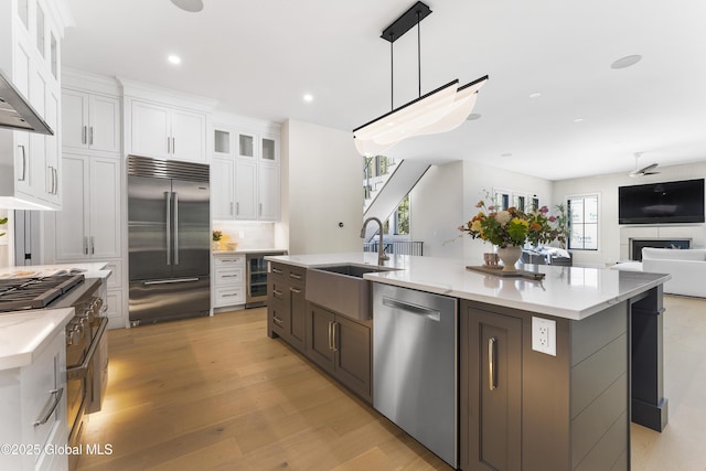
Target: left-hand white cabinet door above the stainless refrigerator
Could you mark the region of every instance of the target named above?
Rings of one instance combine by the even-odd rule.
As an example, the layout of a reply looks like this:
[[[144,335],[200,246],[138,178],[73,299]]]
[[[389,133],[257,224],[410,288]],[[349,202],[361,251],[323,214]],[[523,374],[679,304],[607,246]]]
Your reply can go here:
[[[130,153],[168,159],[172,148],[169,108],[133,100],[131,118]]]

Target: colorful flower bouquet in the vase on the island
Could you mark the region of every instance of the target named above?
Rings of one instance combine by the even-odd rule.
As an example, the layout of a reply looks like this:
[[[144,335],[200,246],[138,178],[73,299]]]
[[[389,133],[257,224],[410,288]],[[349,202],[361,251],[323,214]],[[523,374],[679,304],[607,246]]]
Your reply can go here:
[[[505,248],[522,247],[527,242],[534,246],[548,244],[559,236],[559,231],[552,225],[556,217],[547,214],[547,206],[530,212],[514,206],[498,211],[494,205],[485,205],[484,201],[480,201],[475,207],[480,210],[478,214],[459,226],[459,231],[468,233],[471,238],[488,240]]]

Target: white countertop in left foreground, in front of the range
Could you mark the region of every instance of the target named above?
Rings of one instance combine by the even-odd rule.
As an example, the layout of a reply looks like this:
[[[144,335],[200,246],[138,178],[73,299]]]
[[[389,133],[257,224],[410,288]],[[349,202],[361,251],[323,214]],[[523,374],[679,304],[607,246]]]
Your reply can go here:
[[[0,371],[30,365],[74,315],[74,308],[0,313]]]

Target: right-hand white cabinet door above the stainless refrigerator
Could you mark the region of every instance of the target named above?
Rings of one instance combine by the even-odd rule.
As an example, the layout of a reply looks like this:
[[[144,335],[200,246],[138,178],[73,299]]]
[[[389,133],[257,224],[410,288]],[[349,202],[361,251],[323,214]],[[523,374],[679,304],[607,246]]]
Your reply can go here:
[[[203,114],[181,109],[172,111],[173,159],[190,162],[206,161],[206,117]]]

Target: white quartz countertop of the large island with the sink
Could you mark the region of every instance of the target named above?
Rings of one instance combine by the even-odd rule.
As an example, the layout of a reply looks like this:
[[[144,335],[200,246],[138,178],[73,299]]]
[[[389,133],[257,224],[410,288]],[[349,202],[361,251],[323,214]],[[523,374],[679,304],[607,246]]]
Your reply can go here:
[[[620,271],[606,268],[518,265],[545,274],[542,281],[501,278],[466,267],[480,260],[391,255],[386,268],[364,278],[387,285],[435,292],[460,299],[566,318],[586,319],[671,279],[670,275]],[[377,254],[313,254],[266,257],[304,268],[341,264],[377,265]]]

